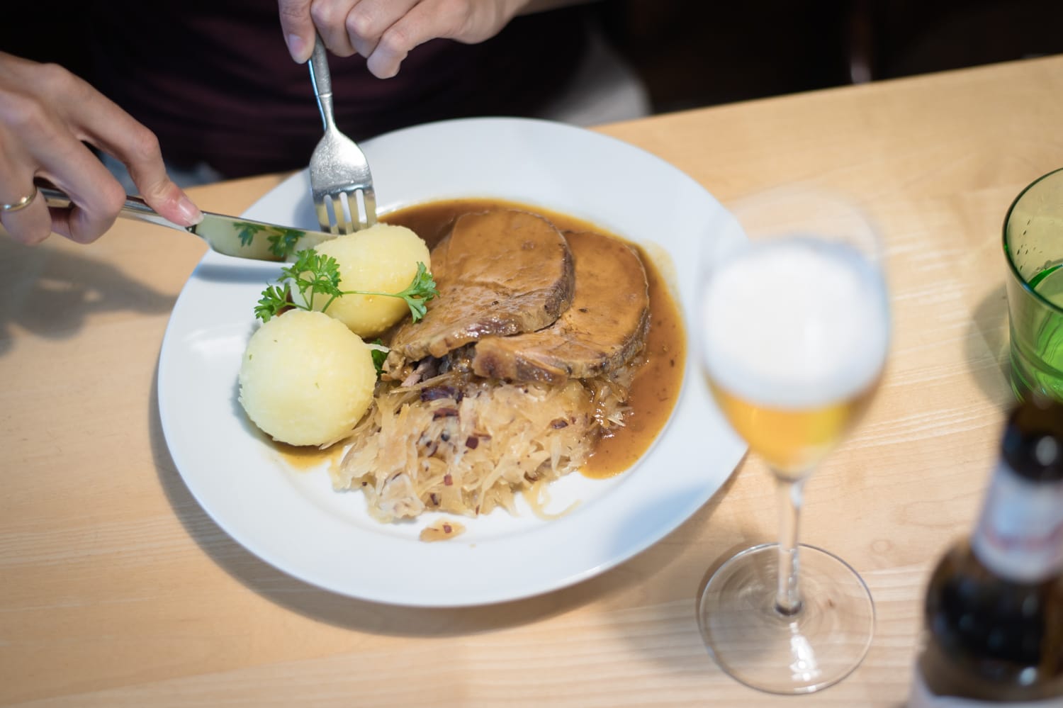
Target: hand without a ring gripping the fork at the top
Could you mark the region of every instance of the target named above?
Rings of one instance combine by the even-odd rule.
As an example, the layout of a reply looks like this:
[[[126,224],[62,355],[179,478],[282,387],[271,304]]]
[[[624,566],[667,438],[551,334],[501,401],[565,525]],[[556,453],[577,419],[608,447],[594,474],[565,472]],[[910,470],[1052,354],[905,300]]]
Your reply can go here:
[[[281,28],[291,57],[314,51],[315,29],[339,56],[358,53],[381,79],[399,73],[406,54],[429,39],[465,44],[490,39],[529,0],[277,0]],[[568,4],[556,2],[552,4]]]

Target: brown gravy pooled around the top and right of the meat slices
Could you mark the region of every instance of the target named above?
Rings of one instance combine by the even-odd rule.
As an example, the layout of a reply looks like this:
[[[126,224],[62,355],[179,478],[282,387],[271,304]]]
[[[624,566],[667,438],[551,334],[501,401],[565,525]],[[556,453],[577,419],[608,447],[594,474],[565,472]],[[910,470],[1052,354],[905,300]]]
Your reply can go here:
[[[621,239],[601,226],[550,209],[496,199],[455,199],[416,204],[381,217],[387,223],[412,230],[428,248],[442,238],[451,222],[468,212],[517,208],[550,219],[561,231],[594,231]],[[686,338],[679,314],[668,284],[653,260],[637,243],[649,282],[649,333],[646,337],[648,360],[635,378],[630,390],[630,412],[626,425],[603,438],[580,472],[594,478],[613,476],[628,469],[645,453],[668,421],[679,397],[686,367]]]

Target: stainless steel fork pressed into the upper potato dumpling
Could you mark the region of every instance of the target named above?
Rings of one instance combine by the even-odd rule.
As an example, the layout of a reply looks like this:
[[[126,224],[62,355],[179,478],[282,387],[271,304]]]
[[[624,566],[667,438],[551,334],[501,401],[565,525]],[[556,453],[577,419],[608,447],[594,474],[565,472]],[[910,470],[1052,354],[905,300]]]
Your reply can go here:
[[[328,53],[320,36],[314,45],[309,65],[325,125],[325,134],[310,156],[310,193],[321,230],[350,234],[376,223],[373,176],[361,149],[336,128]]]

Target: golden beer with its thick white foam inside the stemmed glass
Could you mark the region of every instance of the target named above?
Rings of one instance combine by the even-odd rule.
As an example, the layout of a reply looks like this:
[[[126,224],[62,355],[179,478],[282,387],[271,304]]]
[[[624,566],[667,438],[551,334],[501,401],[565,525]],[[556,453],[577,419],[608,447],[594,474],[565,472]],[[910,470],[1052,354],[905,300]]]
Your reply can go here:
[[[703,302],[709,387],[773,470],[803,475],[871,401],[889,339],[884,285],[856,250],[802,238],[719,268]]]

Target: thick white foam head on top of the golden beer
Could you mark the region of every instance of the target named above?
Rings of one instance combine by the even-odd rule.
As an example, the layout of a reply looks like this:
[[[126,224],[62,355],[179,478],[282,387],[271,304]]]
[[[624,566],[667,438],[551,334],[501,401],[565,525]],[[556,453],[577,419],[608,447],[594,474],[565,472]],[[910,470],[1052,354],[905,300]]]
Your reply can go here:
[[[771,407],[849,399],[889,347],[885,286],[851,247],[812,238],[749,245],[705,284],[702,358],[715,385]]]

